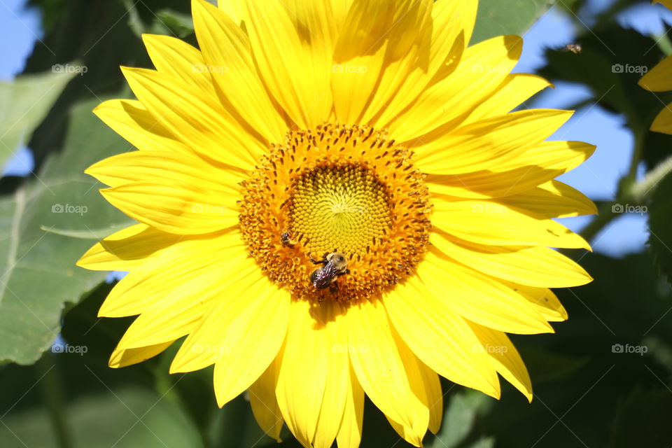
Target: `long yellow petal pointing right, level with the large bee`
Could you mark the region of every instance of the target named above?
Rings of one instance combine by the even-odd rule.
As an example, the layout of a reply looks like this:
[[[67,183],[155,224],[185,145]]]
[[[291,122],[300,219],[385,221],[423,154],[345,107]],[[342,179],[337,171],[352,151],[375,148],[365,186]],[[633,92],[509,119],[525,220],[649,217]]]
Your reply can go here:
[[[482,246],[433,232],[444,254],[485,274],[539,288],[568,288],[592,281],[580,265],[547,247]]]

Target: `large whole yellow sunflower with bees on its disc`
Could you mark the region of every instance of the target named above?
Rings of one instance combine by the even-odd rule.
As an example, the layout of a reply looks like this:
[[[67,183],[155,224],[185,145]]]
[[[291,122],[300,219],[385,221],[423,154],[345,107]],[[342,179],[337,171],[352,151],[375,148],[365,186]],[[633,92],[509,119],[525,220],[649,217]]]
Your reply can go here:
[[[366,394],[420,446],[439,375],[532,398],[508,333],[552,332],[549,288],[591,280],[552,218],[594,204],[554,178],[594,146],[571,116],[510,113],[549,86],[510,74],[521,38],[470,47],[477,1],[193,1],[200,50],[145,35],[137,100],[94,112],[139,151],[87,174],[139,221],[78,264],[130,272],[100,316],[138,316],[121,367],[177,340],[279,440],[357,447]],[[184,339],[182,339],[185,337]]]

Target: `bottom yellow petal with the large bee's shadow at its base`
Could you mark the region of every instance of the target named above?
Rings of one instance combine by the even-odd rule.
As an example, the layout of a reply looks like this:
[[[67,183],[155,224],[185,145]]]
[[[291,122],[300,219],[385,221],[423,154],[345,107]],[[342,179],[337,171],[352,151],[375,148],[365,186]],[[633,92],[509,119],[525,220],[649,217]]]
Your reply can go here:
[[[330,447],[343,416],[349,374],[343,318],[337,302],[291,304],[276,394],[304,447]]]

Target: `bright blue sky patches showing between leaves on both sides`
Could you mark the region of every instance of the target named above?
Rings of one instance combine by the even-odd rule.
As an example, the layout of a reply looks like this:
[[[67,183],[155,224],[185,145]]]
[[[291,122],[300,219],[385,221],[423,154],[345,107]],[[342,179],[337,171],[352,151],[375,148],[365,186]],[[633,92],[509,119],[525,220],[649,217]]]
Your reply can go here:
[[[25,0],[0,0],[0,80],[9,80],[20,73],[36,38],[42,31],[35,10],[25,8]],[[607,8],[612,0],[591,0],[580,11],[582,21],[591,25],[591,16]],[[643,34],[664,32],[663,20],[672,23],[672,13],[660,5],[642,4],[626,10],[618,21]],[[516,71],[534,73],[544,64],[545,48],[562,48],[573,43],[573,22],[553,7],[524,36],[524,48]],[[556,84],[554,90],[544,92],[531,107],[563,109],[577,99],[589,97],[582,86]],[[568,183],[595,200],[613,199],[617,181],[627,171],[633,149],[631,132],[623,126],[622,117],[608,113],[599,106],[586,106],[563,126],[551,139],[587,141],[597,146],[593,157],[573,172],[561,176]],[[25,174],[31,166],[30,154],[25,148],[5,167],[6,174]],[[566,218],[565,225],[580,230],[591,217]],[[593,241],[594,249],[612,256],[639,251],[647,239],[646,218],[624,214],[613,221]]]

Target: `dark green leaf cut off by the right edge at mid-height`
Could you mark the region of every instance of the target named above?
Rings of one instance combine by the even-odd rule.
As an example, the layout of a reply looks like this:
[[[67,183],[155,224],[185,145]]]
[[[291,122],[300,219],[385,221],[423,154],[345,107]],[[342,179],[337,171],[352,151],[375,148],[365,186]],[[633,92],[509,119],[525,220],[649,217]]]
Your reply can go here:
[[[672,175],[656,187],[649,207],[649,248],[662,274],[672,282]]]

